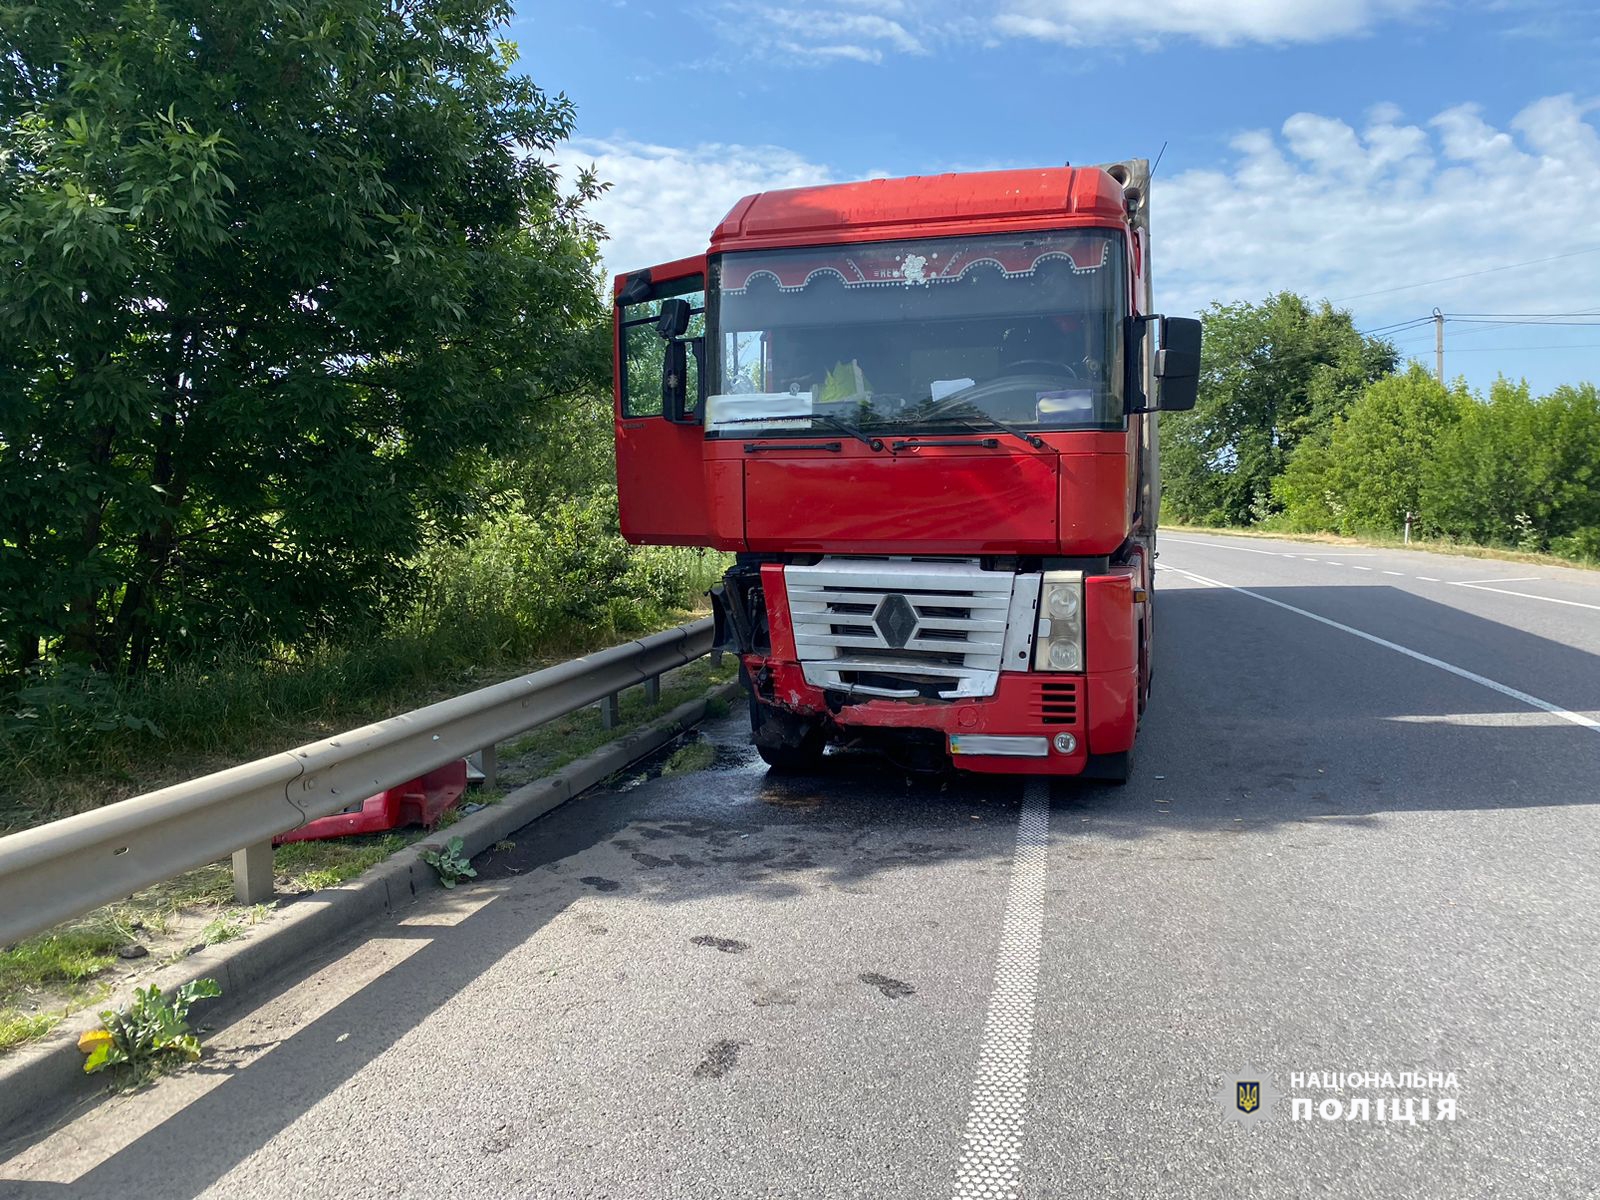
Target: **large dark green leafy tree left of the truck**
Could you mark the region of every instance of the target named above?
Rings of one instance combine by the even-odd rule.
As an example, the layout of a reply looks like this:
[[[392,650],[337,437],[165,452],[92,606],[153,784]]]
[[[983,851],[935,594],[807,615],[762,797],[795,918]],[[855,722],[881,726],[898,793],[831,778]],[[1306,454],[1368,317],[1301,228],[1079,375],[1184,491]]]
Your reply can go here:
[[[325,635],[605,378],[498,0],[0,6],[0,643]]]

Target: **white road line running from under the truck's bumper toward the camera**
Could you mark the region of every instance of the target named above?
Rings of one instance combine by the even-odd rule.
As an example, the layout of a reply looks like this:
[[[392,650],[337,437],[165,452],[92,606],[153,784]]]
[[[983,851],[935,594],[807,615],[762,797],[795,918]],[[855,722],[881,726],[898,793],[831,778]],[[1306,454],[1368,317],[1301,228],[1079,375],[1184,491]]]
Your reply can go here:
[[[1011,1200],[1021,1187],[1048,846],[1050,784],[1029,779],[1022,790],[1022,816],[1016,826],[1011,890],[1005,902],[989,1016],[984,1019],[978,1078],[966,1109],[966,1134],[962,1139],[962,1163],[955,1171],[954,1200]]]

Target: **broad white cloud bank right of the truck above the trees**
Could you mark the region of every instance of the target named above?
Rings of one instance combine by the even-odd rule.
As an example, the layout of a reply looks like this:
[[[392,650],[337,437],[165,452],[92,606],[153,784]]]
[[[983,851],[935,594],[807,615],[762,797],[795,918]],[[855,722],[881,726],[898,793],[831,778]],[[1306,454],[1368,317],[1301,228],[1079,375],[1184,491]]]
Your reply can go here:
[[[1499,130],[1474,106],[1421,125],[1381,106],[1360,130],[1299,112],[1240,134],[1224,165],[1155,181],[1160,302],[1288,288],[1358,298],[1368,318],[1594,307],[1600,254],[1389,291],[1600,245],[1600,134],[1584,114],[1550,96]]]

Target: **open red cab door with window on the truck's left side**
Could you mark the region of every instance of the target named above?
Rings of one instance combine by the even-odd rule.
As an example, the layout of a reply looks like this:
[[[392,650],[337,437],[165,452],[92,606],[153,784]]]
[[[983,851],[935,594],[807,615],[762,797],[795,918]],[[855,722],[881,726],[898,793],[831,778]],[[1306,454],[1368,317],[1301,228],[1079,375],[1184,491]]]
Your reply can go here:
[[[616,282],[616,491],[622,536],[654,546],[706,546],[710,520],[702,464],[699,362],[688,354],[690,421],[661,405],[666,342],[656,333],[661,301],[683,298],[685,338],[706,333],[706,259],[680,259]]]

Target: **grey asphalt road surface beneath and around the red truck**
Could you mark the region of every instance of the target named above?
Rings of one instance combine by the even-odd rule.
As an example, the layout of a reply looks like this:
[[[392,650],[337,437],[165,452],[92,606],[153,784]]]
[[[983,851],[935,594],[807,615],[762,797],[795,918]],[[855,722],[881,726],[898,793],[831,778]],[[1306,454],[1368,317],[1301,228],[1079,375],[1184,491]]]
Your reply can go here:
[[[1600,574],[1160,565],[1130,786],[779,779],[717,722],[0,1195],[1595,1195]],[[1368,1115],[1424,1098],[1456,1118]]]

